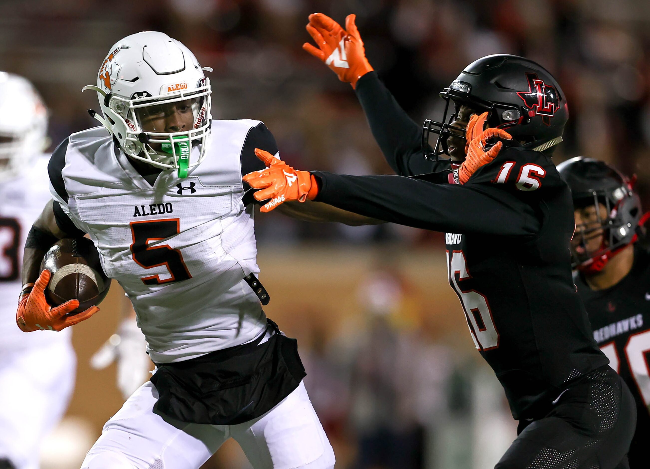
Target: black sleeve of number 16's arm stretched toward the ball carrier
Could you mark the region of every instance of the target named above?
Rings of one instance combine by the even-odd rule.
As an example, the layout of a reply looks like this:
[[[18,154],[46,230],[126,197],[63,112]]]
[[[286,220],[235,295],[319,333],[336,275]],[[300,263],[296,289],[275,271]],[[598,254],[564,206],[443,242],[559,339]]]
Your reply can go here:
[[[312,174],[320,178],[317,202],[387,222],[438,232],[506,236],[534,235],[541,224],[531,206],[489,185]]]

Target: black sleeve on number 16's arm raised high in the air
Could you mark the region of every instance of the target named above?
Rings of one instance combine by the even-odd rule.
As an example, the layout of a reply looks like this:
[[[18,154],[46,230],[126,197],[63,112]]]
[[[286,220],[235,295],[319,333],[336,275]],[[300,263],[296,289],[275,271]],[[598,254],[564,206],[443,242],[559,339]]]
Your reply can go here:
[[[355,91],[375,141],[397,174],[413,176],[448,168],[447,163],[424,159],[422,126],[404,112],[377,72],[359,78]]]

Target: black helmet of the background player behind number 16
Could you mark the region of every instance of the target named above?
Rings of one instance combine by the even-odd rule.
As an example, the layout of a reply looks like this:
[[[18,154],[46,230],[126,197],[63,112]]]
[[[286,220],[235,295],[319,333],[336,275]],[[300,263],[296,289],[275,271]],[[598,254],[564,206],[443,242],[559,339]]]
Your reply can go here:
[[[574,269],[599,272],[623,248],[638,239],[642,219],[641,200],[634,192],[634,181],[597,159],[578,156],[558,165],[560,176],[571,189],[575,208],[595,206],[597,221],[576,225],[571,245]],[[603,219],[599,204],[607,216]],[[603,243],[595,250],[586,249],[586,241],[603,233]]]

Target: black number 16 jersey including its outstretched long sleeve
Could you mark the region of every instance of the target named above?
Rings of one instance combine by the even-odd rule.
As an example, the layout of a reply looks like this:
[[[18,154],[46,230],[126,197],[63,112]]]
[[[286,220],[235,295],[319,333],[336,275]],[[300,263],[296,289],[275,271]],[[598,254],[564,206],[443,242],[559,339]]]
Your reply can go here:
[[[450,284],[514,418],[538,417],[567,382],[608,363],[573,285],[571,194],[545,155],[504,148],[464,185],[448,171],[313,174],[320,202],[447,233]]]

